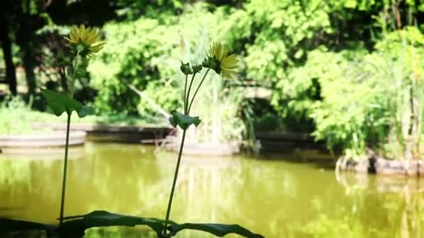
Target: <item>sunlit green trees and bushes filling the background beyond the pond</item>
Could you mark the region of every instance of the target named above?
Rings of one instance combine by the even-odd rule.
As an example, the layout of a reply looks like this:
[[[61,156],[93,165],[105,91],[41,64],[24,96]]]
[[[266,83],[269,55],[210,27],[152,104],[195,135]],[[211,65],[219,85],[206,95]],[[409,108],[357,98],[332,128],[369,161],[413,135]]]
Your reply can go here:
[[[255,127],[312,133],[352,158],[367,148],[422,155],[421,1],[20,0],[1,9],[7,92],[31,95],[34,109],[45,109],[38,87],[67,87],[61,36],[84,23],[101,27],[106,45],[76,97],[99,116],[163,122],[146,97],[168,112],[181,108],[179,61],[197,61],[219,40],[242,70],[232,81],[206,80],[197,142],[242,141]]]

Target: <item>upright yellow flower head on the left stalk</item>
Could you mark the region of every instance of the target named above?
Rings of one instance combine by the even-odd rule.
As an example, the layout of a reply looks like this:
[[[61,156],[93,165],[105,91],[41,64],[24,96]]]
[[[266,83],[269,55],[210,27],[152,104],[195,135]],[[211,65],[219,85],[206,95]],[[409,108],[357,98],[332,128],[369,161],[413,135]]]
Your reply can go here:
[[[105,45],[98,29],[86,28],[83,24],[79,25],[79,27],[72,26],[69,38],[65,37],[65,39],[68,40],[71,47],[79,51],[81,56],[97,53]]]

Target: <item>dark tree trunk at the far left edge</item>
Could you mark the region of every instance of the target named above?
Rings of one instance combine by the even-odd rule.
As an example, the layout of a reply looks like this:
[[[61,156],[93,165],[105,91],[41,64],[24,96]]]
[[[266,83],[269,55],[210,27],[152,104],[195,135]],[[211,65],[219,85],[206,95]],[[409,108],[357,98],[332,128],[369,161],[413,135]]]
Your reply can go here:
[[[17,94],[16,71],[12,58],[12,42],[9,38],[9,29],[6,17],[0,17],[0,42],[3,50],[4,63],[6,65],[6,79],[8,80],[9,90],[13,95]]]

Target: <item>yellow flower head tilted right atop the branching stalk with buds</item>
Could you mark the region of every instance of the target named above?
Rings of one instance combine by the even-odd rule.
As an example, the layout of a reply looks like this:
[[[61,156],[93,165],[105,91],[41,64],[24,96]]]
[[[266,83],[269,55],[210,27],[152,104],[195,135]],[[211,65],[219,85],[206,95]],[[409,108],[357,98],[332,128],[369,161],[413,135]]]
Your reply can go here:
[[[232,79],[233,74],[236,74],[236,69],[239,68],[236,56],[234,54],[228,55],[228,50],[221,43],[213,43],[207,55],[217,63],[217,65],[211,64],[209,68],[221,74],[222,77]]]

